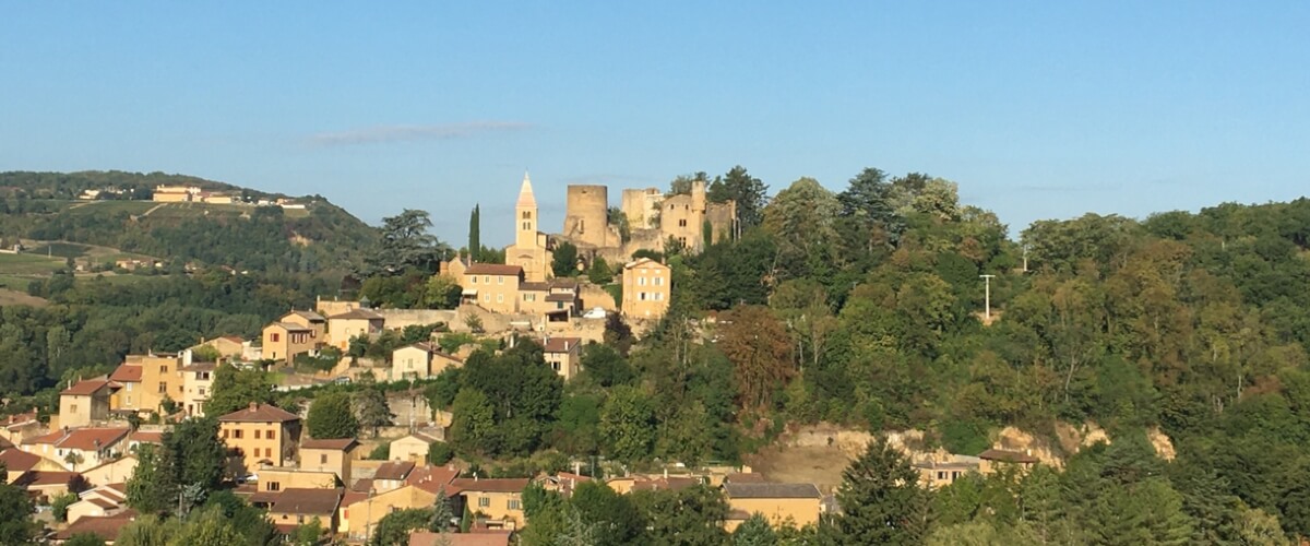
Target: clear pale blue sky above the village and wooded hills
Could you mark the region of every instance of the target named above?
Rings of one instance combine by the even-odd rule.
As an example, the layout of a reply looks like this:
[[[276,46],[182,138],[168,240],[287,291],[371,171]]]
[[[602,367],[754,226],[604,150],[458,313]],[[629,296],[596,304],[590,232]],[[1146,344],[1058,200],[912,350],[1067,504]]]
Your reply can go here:
[[[1310,187],[1310,3],[0,0],[0,170],[198,175],[508,244],[531,172],[948,178],[1018,233]]]

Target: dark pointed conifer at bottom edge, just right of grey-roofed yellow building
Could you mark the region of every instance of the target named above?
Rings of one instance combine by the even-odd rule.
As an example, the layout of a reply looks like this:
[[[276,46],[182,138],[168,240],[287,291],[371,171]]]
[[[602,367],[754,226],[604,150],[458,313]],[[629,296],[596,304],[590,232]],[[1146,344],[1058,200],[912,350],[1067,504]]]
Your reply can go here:
[[[929,495],[918,486],[909,461],[878,439],[841,473],[837,504],[842,513],[825,525],[829,538],[842,545],[912,545],[927,530]]]

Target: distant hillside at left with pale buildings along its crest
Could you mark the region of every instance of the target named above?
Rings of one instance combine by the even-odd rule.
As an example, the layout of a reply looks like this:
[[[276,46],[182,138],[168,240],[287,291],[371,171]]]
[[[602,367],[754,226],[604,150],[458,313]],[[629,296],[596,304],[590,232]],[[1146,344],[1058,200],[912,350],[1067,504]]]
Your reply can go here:
[[[96,266],[153,257],[174,268],[194,263],[312,274],[348,268],[376,237],[373,228],[317,195],[296,198],[304,208],[148,200],[159,185],[223,191],[242,200],[286,198],[177,174],[8,172],[0,173],[0,242],[107,247],[98,254],[54,253],[105,261]],[[76,199],[89,190],[105,194],[100,200]],[[10,271],[0,267],[3,272]]]

